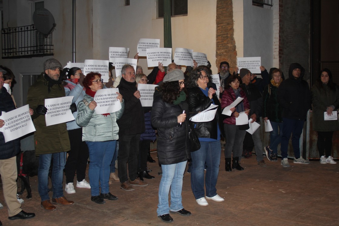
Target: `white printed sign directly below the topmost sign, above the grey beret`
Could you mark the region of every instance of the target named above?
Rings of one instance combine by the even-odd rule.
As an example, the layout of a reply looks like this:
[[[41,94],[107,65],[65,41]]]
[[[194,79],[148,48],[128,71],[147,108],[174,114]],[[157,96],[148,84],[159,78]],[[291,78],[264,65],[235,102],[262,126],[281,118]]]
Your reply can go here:
[[[159,61],[164,67],[172,63],[172,48],[152,48],[146,49],[148,67],[157,67]]]

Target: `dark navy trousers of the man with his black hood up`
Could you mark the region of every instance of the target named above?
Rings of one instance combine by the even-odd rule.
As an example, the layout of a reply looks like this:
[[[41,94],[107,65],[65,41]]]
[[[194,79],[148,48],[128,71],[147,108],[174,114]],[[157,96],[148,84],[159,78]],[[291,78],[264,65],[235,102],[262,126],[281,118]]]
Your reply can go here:
[[[300,158],[299,140],[302,129],[304,127],[304,120],[298,119],[282,119],[282,138],[281,138],[281,158],[287,158],[288,141],[292,133],[292,147],[294,151],[294,158]]]

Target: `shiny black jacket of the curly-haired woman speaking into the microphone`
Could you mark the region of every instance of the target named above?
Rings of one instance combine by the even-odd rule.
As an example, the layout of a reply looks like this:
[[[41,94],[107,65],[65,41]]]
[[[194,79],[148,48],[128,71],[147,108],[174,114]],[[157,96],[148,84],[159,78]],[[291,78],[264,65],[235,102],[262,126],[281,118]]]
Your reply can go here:
[[[199,87],[189,88],[188,90],[188,108],[190,112],[198,113],[199,111],[205,110],[212,104],[212,100],[206,97]],[[221,104],[218,98],[212,98],[215,105],[218,105],[217,113],[214,119],[210,122],[191,122],[191,128],[195,126],[195,132],[200,138],[212,138],[218,140],[218,130],[221,131],[221,135],[225,137],[224,126],[221,118]]]

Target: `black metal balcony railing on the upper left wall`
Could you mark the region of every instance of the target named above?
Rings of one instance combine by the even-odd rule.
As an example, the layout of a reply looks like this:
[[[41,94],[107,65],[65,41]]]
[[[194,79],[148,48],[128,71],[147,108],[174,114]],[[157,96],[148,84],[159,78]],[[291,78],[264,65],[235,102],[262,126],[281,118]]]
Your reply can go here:
[[[44,35],[35,26],[1,29],[2,59],[53,56],[52,34]]]

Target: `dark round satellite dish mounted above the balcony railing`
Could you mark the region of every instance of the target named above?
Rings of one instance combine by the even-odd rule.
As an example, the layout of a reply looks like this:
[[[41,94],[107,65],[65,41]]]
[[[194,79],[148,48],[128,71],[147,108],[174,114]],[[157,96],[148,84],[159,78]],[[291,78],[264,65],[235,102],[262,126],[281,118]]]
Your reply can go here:
[[[44,34],[45,38],[54,31],[57,25],[52,13],[45,8],[38,8],[34,11],[33,23],[35,28]]]

